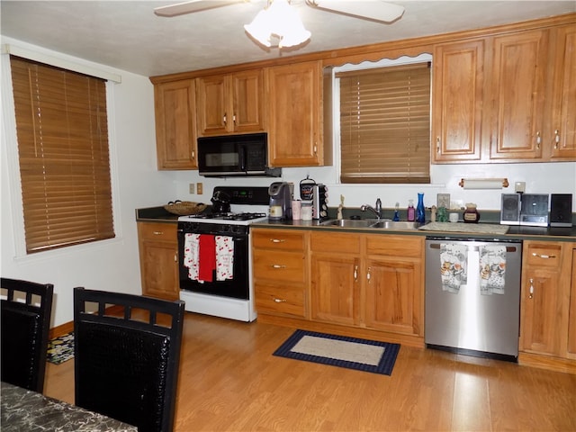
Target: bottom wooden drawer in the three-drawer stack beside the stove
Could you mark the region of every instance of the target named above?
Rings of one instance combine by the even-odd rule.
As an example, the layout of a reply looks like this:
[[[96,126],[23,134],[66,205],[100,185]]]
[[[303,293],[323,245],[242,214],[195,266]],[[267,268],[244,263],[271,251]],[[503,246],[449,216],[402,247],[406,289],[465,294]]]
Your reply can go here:
[[[304,291],[302,288],[284,288],[266,284],[255,285],[255,302],[258,312],[304,316]]]

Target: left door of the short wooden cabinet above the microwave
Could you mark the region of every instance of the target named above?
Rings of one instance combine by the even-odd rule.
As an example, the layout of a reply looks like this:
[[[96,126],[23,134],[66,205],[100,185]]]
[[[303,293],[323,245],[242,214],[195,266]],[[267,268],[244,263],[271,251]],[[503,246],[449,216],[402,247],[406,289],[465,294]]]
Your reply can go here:
[[[197,121],[199,135],[227,133],[233,121],[229,106],[229,76],[197,78]]]

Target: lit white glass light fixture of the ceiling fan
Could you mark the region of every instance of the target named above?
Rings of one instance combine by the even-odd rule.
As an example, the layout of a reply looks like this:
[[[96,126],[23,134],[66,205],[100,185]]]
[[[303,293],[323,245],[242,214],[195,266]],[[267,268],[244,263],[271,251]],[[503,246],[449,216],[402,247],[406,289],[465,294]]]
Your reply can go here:
[[[247,33],[259,43],[271,47],[271,40],[278,38],[278,48],[300,45],[311,38],[300,17],[290,7],[288,0],[272,0],[260,11],[252,23],[244,26]]]

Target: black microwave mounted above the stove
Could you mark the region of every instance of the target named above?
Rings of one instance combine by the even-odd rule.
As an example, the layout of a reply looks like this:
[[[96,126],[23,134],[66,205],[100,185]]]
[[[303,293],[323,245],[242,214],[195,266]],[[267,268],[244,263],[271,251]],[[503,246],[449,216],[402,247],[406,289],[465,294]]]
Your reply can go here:
[[[266,133],[201,137],[198,139],[198,173],[206,177],[265,175],[279,177],[281,168],[268,165]]]

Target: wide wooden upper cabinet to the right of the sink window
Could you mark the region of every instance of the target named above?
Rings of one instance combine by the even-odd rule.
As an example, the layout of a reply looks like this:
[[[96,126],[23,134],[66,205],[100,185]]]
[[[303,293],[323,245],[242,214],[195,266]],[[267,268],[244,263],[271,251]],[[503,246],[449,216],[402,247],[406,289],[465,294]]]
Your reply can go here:
[[[438,44],[433,162],[576,160],[575,29]]]

